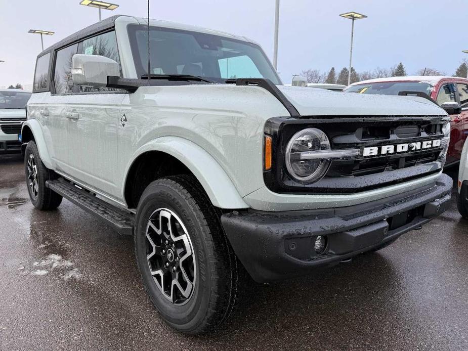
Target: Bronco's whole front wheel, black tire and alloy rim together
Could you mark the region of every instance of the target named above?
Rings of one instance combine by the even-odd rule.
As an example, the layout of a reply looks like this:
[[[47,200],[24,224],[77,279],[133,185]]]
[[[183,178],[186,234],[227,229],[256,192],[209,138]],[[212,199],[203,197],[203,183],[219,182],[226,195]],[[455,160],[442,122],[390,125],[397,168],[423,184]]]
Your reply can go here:
[[[217,209],[194,177],[151,183],[140,199],[135,253],[144,287],[166,322],[197,334],[225,321],[237,293],[237,259]]]

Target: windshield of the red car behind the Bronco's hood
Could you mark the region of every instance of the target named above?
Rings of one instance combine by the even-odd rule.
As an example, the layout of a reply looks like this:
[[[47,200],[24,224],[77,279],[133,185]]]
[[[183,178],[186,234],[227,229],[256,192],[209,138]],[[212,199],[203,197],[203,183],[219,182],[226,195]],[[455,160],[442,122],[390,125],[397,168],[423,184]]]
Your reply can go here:
[[[347,93],[398,95],[400,92],[421,92],[431,96],[433,86],[417,81],[393,81],[352,85]]]

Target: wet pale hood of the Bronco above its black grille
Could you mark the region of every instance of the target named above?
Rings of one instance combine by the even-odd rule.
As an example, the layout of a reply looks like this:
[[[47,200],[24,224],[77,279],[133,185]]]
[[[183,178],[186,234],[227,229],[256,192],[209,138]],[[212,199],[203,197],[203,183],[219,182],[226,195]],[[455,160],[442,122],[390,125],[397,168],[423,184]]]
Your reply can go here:
[[[301,116],[444,116],[447,113],[423,98],[331,92],[313,87],[278,85]]]

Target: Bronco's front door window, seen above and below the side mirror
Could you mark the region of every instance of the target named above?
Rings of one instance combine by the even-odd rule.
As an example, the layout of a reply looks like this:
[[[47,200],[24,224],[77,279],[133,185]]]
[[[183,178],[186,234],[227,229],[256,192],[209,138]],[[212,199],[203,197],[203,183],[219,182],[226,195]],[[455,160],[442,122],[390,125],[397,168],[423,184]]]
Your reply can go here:
[[[83,40],[78,45],[78,54],[85,55],[101,55],[108,57],[120,64],[117,48],[117,38],[115,31],[107,32],[104,34],[93,36],[92,38]],[[120,73],[120,76],[122,74]],[[105,92],[117,91],[120,89],[113,89],[107,87],[78,85],[73,87],[74,92]]]

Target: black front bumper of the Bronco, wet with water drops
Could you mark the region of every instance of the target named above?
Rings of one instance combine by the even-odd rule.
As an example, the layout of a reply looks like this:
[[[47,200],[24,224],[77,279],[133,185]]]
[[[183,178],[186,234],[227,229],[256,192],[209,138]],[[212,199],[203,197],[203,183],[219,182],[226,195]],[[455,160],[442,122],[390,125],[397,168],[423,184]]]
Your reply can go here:
[[[257,282],[307,274],[371,250],[444,212],[453,181],[435,183],[368,203],[319,210],[231,212],[221,222],[237,256]],[[330,205],[332,205],[330,203]],[[315,237],[327,236],[323,254]]]

